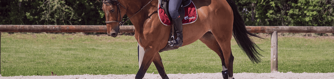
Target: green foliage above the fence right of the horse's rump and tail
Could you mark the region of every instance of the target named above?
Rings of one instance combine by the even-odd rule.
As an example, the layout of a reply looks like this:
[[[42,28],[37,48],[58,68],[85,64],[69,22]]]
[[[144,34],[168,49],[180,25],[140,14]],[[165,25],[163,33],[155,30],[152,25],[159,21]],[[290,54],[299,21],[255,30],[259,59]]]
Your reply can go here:
[[[333,0],[235,1],[246,25],[334,26]]]

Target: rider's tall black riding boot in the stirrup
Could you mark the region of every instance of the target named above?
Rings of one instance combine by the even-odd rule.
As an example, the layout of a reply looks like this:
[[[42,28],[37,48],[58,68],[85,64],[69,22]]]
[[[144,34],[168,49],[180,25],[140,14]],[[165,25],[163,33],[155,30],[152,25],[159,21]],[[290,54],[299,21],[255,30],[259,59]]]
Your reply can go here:
[[[170,45],[174,45],[176,47],[181,47],[183,43],[183,33],[182,33],[182,19],[183,17],[178,17],[175,20],[172,20],[173,25],[176,29],[176,39],[172,41],[168,41]]]

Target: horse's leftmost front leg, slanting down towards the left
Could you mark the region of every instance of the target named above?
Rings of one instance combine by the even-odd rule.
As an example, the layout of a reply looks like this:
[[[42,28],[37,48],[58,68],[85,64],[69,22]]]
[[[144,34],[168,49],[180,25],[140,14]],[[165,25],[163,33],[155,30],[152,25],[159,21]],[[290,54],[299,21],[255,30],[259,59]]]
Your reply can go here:
[[[136,74],[136,78],[135,79],[143,79],[144,75],[147,71],[147,69],[150,67],[152,61],[154,60],[155,55],[158,53],[159,50],[154,50],[152,49],[152,47],[150,46],[150,48],[144,48],[145,50],[145,54],[143,57],[143,61],[142,64]],[[160,55],[159,55],[160,57]]]

